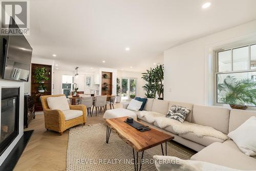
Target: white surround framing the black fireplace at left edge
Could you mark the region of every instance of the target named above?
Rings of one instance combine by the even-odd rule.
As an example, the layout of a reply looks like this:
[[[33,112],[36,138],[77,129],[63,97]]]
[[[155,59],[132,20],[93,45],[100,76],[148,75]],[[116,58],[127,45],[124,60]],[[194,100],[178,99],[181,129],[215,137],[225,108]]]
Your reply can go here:
[[[19,87],[19,130],[18,136],[12,141],[12,143],[6,148],[5,152],[0,156],[0,165],[5,161],[7,156],[12,151],[13,147],[16,145],[18,140],[23,136],[24,133],[24,82],[18,81],[9,81],[0,79],[0,99],[1,97],[1,89],[3,87]],[[0,100],[1,107],[1,100]],[[0,110],[0,118],[1,118],[1,110]],[[1,127],[1,123],[0,123]]]

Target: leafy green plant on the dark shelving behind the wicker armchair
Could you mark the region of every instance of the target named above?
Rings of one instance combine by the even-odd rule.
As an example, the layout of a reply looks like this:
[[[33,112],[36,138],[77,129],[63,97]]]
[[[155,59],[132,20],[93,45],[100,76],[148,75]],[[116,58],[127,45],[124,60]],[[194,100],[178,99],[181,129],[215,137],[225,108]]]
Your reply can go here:
[[[46,68],[35,68],[35,82],[38,83],[38,92],[44,93],[47,91],[45,86],[45,81],[49,80],[49,77],[47,76]]]

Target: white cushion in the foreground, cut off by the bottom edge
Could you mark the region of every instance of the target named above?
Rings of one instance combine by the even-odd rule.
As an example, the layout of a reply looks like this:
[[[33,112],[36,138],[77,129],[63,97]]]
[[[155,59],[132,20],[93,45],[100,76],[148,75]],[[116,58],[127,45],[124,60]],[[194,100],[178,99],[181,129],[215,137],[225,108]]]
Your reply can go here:
[[[197,160],[182,160],[173,156],[154,156],[158,171],[234,171],[237,169]]]

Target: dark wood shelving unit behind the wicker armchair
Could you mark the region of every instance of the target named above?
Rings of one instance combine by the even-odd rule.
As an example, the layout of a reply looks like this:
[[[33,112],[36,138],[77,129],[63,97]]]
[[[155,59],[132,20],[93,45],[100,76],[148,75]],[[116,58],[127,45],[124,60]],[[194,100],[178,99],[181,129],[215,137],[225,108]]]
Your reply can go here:
[[[45,86],[47,91],[44,93],[39,93],[38,92],[38,83],[35,82],[35,69],[36,67],[38,68],[42,68],[45,67],[46,68],[46,73],[47,76],[49,77],[49,80],[45,81]],[[35,99],[35,111],[42,111],[42,103],[40,101],[39,96],[37,96],[38,94],[42,94],[42,95],[51,95],[52,94],[52,66],[49,65],[41,65],[41,64],[37,64],[37,63],[32,63],[32,70],[31,70],[31,95],[34,96]]]

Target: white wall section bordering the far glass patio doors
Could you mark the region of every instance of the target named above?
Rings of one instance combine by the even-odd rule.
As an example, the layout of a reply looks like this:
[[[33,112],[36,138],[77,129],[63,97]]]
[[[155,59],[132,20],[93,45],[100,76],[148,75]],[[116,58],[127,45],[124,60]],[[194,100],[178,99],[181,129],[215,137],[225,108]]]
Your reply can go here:
[[[141,78],[142,74],[139,72],[127,72],[127,71],[117,71],[117,78],[137,78],[137,95],[138,97],[144,97],[145,91],[142,86],[144,86],[145,81]]]

